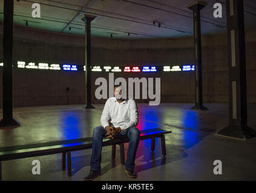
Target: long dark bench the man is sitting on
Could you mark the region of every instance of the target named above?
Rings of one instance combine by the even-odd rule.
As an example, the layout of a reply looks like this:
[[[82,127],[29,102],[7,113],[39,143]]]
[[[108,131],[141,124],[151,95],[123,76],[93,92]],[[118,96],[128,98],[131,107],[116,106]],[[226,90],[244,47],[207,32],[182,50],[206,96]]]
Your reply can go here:
[[[165,134],[171,131],[153,128],[140,131],[140,140],[151,139],[151,151],[155,149],[155,139],[161,139],[162,154],[166,155]],[[71,139],[65,141],[45,142],[41,144],[18,145],[0,148],[0,180],[2,180],[2,161],[22,159],[26,157],[45,156],[49,154],[62,153],[62,169],[66,166],[67,155],[67,171],[71,176],[71,151],[87,150],[92,148],[92,138]],[[128,142],[122,139],[103,139],[103,147],[112,145],[112,159],[116,158],[116,145],[120,145],[120,162],[125,165],[125,148],[124,144]]]

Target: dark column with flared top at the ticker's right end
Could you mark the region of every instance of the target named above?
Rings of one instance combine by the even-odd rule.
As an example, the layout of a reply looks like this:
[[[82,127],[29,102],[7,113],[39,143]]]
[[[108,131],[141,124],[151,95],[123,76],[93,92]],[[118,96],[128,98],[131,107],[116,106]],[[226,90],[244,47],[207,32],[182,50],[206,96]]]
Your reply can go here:
[[[191,109],[207,110],[203,106],[203,82],[202,82],[202,48],[201,48],[201,21],[200,10],[206,6],[203,1],[195,1],[188,5],[193,11],[194,18],[194,48],[195,48],[195,106]]]

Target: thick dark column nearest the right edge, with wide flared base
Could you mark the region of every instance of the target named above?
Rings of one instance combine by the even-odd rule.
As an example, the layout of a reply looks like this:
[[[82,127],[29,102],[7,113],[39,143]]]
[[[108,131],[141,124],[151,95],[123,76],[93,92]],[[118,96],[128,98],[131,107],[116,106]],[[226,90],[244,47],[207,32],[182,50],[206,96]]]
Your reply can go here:
[[[229,126],[218,135],[249,139],[256,133],[247,125],[245,24],[243,0],[226,1],[229,66]]]

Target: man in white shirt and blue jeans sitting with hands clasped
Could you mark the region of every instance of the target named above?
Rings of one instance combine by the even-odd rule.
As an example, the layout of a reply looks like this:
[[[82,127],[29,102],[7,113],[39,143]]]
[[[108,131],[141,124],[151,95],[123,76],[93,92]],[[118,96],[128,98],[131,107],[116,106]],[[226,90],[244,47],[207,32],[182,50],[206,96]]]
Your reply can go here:
[[[84,180],[93,180],[101,174],[102,138],[129,139],[125,171],[128,172],[129,177],[136,178],[134,161],[140,137],[140,131],[136,127],[139,122],[139,113],[133,99],[122,98],[122,85],[114,87],[114,97],[106,101],[100,122],[102,125],[93,130],[91,169]]]

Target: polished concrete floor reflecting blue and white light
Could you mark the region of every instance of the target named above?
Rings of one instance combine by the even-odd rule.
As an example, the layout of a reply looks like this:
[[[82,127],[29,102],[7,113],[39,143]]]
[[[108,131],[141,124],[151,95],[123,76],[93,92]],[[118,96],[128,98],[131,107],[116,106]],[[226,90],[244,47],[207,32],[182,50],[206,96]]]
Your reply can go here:
[[[91,137],[100,125],[103,104],[85,110],[85,105],[15,107],[13,117],[21,126],[0,129],[0,147]],[[138,177],[131,179],[116,160],[111,147],[102,149],[102,176],[95,180],[256,180],[256,139],[240,141],[216,136],[228,125],[228,104],[207,103],[208,111],[190,110],[193,104],[138,104],[140,130],[160,127],[166,134],[166,157],[160,140],[150,151],[151,141],[140,141],[136,155]],[[256,104],[248,104],[248,125],[256,130]],[[2,110],[1,110],[2,117]],[[128,144],[125,144],[127,151]],[[2,162],[2,180],[82,180],[90,171],[91,150],[74,151],[72,177],[62,171],[61,154]],[[33,175],[33,160],[41,163],[41,174]],[[215,175],[214,160],[222,161],[222,175]]]

